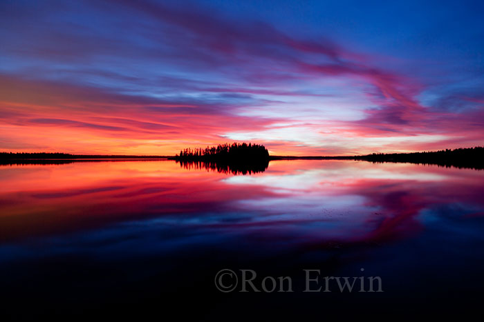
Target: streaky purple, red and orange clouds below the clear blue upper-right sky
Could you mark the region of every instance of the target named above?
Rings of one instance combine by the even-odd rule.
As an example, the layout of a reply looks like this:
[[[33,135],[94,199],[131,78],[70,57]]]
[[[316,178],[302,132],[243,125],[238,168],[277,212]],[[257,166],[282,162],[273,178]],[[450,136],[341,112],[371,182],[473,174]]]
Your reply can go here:
[[[381,59],[385,53],[342,46],[335,34],[289,33],[200,3],[66,1],[2,9],[1,130],[8,131],[8,147],[16,142],[19,150],[39,131],[44,143],[59,145],[55,150],[85,138],[77,145],[83,152],[136,147],[147,154],[221,143],[234,133],[257,137],[279,154],[364,153],[373,149],[371,137],[397,146],[411,136],[440,136],[446,139],[405,149],[449,148],[443,144],[474,144],[483,135],[478,83],[463,90],[429,81],[418,75],[435,67],[413,61],[422,72],[409,72],[389,63],[396,58]],[[334,148],[335,141],[342,146]]]

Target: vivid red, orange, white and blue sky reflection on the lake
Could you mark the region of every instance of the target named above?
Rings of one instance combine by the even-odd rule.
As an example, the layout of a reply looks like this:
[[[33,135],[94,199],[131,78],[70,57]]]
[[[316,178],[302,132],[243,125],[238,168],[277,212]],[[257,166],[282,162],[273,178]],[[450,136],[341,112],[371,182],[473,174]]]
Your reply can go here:
[[[472,216],[484,209],[484,174],[473,170],[272,161],[263,174],[226,177],[217,174],[249,172],[180,165],[132,161],[1,168],[1,239],[157,218],[158,223],[257,232],[295,243],[355,242],[416,232],[423,212],[454,207]],[[215,173],[200,171],[212,166]]]

